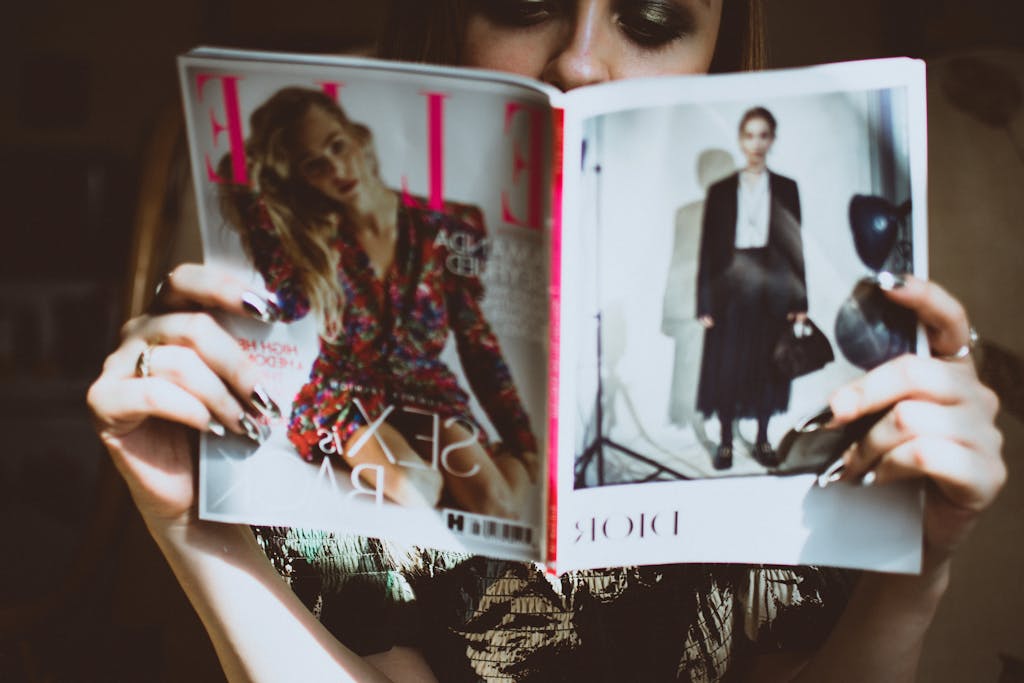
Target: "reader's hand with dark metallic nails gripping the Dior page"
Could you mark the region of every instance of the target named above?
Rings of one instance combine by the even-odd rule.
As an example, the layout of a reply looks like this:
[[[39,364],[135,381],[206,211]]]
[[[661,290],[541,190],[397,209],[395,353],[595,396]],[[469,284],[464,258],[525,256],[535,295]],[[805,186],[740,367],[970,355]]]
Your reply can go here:
[[[904,355],[839,389],[829,400],[835,424],[888,408],[844,456],[843,478],[884,483],[927,477],[926,562],[947,558],[1007,478],[995,394],[981,384],[970,354],[964,307],[941,287],[906,276],[886,292],[918,314],[933,357]]]

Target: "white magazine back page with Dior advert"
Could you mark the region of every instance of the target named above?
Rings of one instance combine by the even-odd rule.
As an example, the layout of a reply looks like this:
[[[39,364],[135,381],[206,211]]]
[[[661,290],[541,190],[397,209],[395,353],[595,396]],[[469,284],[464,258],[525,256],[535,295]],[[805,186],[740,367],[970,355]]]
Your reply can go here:
[[[919,485],[817,482],[870,427],[831,392],[924,350],[880,290],[927,275],[923,63],[568,99],[558,570],[916,571]]]

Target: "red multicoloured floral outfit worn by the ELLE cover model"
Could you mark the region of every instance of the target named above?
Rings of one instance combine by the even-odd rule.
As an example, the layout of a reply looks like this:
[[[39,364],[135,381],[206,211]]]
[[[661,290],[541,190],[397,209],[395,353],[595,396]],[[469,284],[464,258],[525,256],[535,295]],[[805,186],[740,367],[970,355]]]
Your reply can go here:
[[[298,290],[294,265],[284,257],[265,209],[256,222],[255,265],[276,294],[285,319],[299,318],[309,311],[309,301]],[[332,246],[340,255],[337,271],[345,297],[342,332],[337,340],[321,340],[289,425],[289,438],[305,460],[323,457],[317,429],[334,430],[344,441],[388,407],[475,424],[467,393],[440,358],[450,332],[504,445],[513,453],[537,452],[498,338],[480,310],[484,237],[476,207],[450,203],[431,211],[415,201],[399,202],[394,262],[378,276],[355,237],[339,230]],[[477,431],[487,445],[483,430]]]

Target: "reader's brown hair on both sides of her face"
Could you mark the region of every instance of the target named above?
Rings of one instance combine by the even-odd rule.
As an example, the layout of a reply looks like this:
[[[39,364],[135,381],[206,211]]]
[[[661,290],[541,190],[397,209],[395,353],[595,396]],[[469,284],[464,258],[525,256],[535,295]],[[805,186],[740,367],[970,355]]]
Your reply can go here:
[[[472,5],[487,0],[391,0],[378,40],[389,59],[462,63],[460,53]],[[757,71],[767,63],[764,0],[722,0],[711,72]]]

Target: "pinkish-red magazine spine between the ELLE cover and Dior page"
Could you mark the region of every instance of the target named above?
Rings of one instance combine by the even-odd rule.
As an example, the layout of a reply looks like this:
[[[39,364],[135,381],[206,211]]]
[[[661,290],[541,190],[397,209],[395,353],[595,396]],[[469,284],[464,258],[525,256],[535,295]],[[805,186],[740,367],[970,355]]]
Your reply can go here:
[[[548,510],[545,562],[554,572],[558,556],[558,389],[561,359],[562,188],[565,110],[555,106],[552,118],[551,273],[548,313]]]

